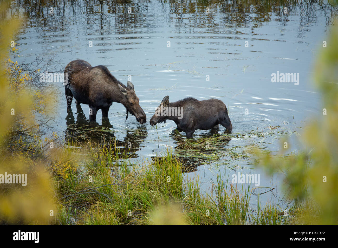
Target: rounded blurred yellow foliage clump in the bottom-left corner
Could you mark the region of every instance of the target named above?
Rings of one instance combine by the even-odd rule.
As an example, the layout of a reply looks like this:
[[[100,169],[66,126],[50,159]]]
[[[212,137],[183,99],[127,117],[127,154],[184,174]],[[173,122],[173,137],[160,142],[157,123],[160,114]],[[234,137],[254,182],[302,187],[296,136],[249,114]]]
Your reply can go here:
[[[48,224],[55,207],[44,165],[25,155],[1,156],[0,174],[5,172],[27,174],[27,185],[0,184],[0,224]]]

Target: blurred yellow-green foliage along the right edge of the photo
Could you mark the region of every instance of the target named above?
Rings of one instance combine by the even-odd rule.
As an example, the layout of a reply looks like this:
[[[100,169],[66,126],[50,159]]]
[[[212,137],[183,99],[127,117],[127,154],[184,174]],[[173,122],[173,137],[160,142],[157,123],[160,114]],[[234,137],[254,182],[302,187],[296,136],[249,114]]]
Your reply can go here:
[[[315,81],[322,94],[322,110],[301,136],[306,151],[275,156],[254,150],[271,175],[285,174],[289,199],[294,201],[297,223],[338,224],[338,27],[331,28],[327,47],[321,47]],[[326,114],[325,114],[326,110]],[[282,146],[283,147],[283,144]],[[326,179],[325,179],[326,178]],[[326,182],[325,182],[326,180]]]

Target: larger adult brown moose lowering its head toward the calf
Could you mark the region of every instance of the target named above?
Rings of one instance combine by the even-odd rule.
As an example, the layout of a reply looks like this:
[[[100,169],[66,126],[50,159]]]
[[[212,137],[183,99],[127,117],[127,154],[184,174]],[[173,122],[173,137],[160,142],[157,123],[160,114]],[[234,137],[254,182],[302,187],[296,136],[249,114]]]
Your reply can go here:
[[[65,75],[68,77],[65,82],[67,107],[71,106],[74,97],[76,105],[89,105],[89,119],[95,120],[99,109],[102,110],[102,116],[107,117],[110,106],[117,102],[127,109],[126,120],[130,113],[141,124],[146,122],[147,118],[139,105],[140,99],[135,94],[134,85],[128,81],[126,87],[106,66],[92,67],[87,61],[78,59],[67,64]]]

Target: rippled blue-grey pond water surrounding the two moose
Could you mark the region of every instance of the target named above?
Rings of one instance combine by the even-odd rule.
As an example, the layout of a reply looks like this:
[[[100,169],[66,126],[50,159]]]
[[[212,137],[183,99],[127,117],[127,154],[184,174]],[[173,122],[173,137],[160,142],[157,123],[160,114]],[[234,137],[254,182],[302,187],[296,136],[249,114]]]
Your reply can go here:
[[[334,8],[325,1],[308,5],[279,2],[283,5],[260,5],[257,1],[79,0],[56,1],[56,6],[53,2],[39,9],[36,3],[14,1],[13,11],[29,17],[17,40],[17,60],[54,54],[62,60],[59,70],[72,60],[84,59],[92,66],[106,65],[124,84],[131,75],[147,115],[146,124],[139,124],[130,115],[125,121],[125,108],[117,103],[113,103],[108,118],[113,135],[122,145],[130,140],[136,142],[135,160],[151,160],[168,146],[177,146],[171,135],[176,127],[173,121],[161,123],[157,130],[149,125],[155,108],[166,95],[170,102],[185,97],[222,100],[234,127],[224,151],[243,153],[249,144],[280,151],[283,144],[276,139],[277,134],[242,138],[237,134],[268,134],[269,126],[281,126],[272,131],[301,132],[299,127],[304,126],[304,121],[321,113],[312,72],[316,54],[324,49],[325,33],[335,16]],[[54,8],[53,15],[49,7]],[[207,7],[210,13],[206,13]],[[277,72],[295,73],[297,78],[293,82],[271,82],[271,74]],[[67,124],[77,121],[81,126],[87,122],[89,107],[82,105],[83,113],[79,113],[73,101],[73,114],[67,116],[64,89],[59,86],[55,129],[65,135]],[[99,125],[101,117],[99,111]],[[219,134],[223,132],[221,127]],[[198,130],[195,139],[211,135],[210,131]],[[291,150],[298,149],[300,144],[293,143]],[[200,177],[207,191],[218,169],[229,178],[237,171],[260,174],[260,187],[274,188],[261,199],[274,202],[283,196],[280,175],[271,178],[261,169],[250,169],[250,159],[235,157],[227,154],[186,174]]]

